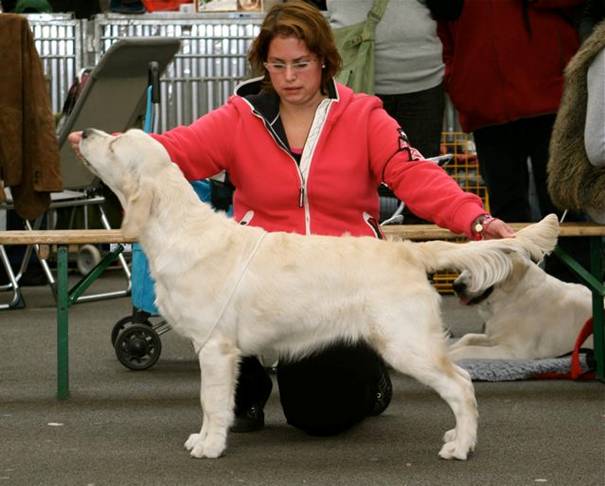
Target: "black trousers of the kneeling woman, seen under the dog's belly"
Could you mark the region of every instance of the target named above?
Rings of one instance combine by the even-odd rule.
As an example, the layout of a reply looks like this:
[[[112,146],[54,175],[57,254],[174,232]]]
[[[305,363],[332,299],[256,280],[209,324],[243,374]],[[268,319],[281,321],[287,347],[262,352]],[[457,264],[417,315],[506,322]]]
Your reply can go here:
[[[382,358],[368,345],[335,344],[277,366],[279,396],[287,422],[312,435],[338,434],[370,414]],[[235,393],[235,413],[264,406],[272,382],[258,359],[243,358]]]

